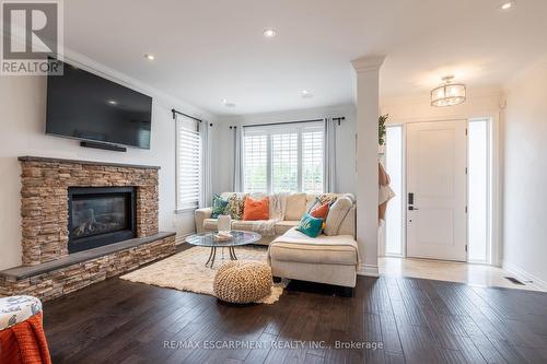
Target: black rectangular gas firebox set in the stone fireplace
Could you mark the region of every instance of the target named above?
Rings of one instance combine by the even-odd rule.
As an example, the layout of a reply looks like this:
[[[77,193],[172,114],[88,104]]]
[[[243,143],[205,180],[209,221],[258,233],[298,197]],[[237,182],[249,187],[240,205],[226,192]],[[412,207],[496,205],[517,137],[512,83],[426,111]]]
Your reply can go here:
[[[135,187],[69,187],[69,254],[136,237],[135,195]]]

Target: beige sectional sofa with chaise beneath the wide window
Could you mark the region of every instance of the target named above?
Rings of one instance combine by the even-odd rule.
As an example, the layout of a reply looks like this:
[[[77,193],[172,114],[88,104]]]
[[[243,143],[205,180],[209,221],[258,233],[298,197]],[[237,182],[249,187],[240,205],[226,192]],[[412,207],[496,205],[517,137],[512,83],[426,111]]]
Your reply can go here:
[[[231,195],[233,192],[221,196],[228,198]],[[295,227],[315,202],[316,195],[294,193],[287,198],[287,220],[276,222],[275,236],[263,236],[258,242],[269,245],[268,261],[275,277],[346,287],[356,285],[359,251],[356,243],[354,198],[349,193],[340,197],[345,197],[346,201],[349,198],[350,207],[346,206],[347,209],[341,212],[336,210],[336,215],[329,214],[336,221],[336,231],[327,226],[329,228],[326,227],[325,232],[328,231],[329,235],[321,234],[315,238],[302,234]],[[211,213],[210,208],[196,210],[197,232],[217,231],[217,219],[211,219]],[[254,231],[255,227],[253,221],[232,221],[232,230]]]

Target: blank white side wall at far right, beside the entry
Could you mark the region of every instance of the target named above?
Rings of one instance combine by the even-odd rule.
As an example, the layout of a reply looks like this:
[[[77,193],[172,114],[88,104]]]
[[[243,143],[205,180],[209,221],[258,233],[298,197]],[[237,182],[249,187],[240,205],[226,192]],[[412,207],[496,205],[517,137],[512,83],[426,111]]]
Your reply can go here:
[[[547,61],[505,93],[503,265],[547,287]]]

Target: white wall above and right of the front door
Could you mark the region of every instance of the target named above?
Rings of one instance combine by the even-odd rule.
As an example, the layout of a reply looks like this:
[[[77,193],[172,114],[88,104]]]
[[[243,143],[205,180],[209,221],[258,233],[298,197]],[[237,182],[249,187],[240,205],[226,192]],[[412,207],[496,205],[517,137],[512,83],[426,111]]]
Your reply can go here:
[[[389,114],[387,124],[405,125],[419,121],[441,121],[490,117],[492,118],[492,164],[493,180],[493,226],[492,226],[492,251],[493,265],[501,263],[501,143],[500,129],[501,116],[500,102],[502,99],[501,87],[485,87],[467,90],[467,101],[464,104],[451,107],[432,107],[429,94],[407,95],[397,97],[384,97],[381,99],[381,114]],[[498,167],[499,166],[499,167]],[[497,197],[497,198],[496,198]],[[404,247],[405,248],[405,247]]]

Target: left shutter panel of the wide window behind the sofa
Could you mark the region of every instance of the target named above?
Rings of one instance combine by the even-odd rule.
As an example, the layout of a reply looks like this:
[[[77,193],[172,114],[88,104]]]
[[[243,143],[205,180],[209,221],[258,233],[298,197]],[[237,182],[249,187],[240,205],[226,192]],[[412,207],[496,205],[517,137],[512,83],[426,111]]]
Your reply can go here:
[[[268,192],[268,136],[244,138],[243,173],[245,191]]]

